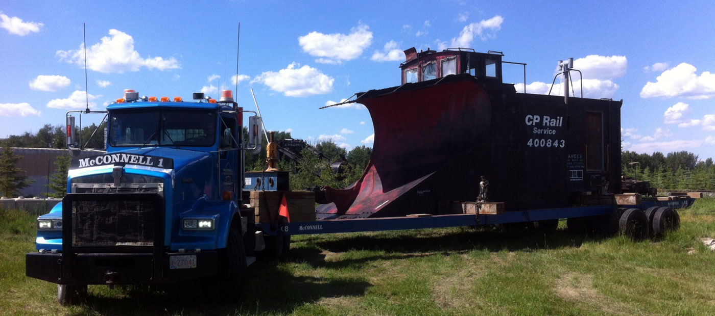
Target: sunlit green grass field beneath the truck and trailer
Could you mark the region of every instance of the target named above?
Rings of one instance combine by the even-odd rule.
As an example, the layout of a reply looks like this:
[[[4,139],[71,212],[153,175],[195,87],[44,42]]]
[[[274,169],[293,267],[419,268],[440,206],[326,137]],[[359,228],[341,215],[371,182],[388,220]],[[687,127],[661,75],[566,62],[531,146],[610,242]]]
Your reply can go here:
[[[445,228],[294,238],[289,260],[258,261],[241,302],[90,286],[61,307],[24,276],[34,216],[0,211],[0,315],[715,315],[715,200],[681,210],[657,242]]]

